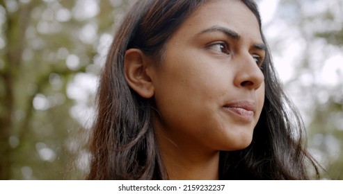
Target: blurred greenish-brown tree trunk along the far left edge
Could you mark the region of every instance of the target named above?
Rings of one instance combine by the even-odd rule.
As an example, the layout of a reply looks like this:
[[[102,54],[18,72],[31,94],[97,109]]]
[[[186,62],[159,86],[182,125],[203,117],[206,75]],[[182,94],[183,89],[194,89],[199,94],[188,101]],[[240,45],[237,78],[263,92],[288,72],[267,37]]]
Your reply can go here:
[[[0,1],[0,6],[6,5]],[[0,179],[11,179],[11,165],[13,164],[13,148],[10,146],[10,136],[14,127],[15,112],[15,80],[17,72],[22,66],[22,52],[25,43],[25,30],[29,24],[30,12],[33,4],[19,6],[15,12],[6,10],[6,21],[3,24],[6,46],[3,48],[3,69],[0,69],[1,82],[4,94],[0,94]]]

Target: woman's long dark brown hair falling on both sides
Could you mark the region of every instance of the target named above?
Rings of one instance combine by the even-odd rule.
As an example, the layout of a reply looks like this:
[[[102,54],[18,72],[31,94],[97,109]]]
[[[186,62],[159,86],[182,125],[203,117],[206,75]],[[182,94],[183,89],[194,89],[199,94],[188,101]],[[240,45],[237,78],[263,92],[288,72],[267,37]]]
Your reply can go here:
[[[207,0],[209,1],[209,0]],[[118,28],[97,94],[97,118],[90,139],[87,179],[168,179],[154,135],[152,99],[141,98],[125,81],[129,48],[163,61],[163,47],[177,28],[206,0],[137,1]],[[242,0],[255,14],[252,0]],[[303,147],[303,123],[285,96],[269,49],[263,64],[265,100],[253,141],[244,150],[221,151],[220,179],[309,179],[317,165]]]

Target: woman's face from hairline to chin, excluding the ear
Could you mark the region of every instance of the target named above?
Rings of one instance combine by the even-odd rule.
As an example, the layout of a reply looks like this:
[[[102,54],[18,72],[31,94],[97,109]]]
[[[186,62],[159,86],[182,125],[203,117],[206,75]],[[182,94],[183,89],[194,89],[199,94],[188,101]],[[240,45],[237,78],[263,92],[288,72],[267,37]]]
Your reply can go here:
[[[264,103],[264,48],[257,19],[241,1],[210,1],[193,12],[152,70],[159,142],[246,148]]]

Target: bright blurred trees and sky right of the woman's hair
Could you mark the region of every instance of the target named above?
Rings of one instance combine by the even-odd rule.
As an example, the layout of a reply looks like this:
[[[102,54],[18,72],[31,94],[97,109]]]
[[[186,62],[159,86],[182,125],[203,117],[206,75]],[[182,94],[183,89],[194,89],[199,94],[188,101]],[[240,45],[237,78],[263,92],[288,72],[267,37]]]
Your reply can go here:
[[[309,149],[327,171],[324,179],[343,179],[342,10],[340,0],[281,0],[272,21],[279,28],[272,46],[293,59],[283,64],[293,67],[285,85],[305,118]]]

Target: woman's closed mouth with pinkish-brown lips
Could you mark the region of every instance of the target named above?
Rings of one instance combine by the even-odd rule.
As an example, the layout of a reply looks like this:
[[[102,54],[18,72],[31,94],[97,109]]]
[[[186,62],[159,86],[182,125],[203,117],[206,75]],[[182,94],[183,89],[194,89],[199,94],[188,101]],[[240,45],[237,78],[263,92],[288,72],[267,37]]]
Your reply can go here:
[[[255,103],[250,101],[229,103],[223,107],[228,110],[228,112],[234,114],[234,116],[243,121],[253,121],[257,109]]]

